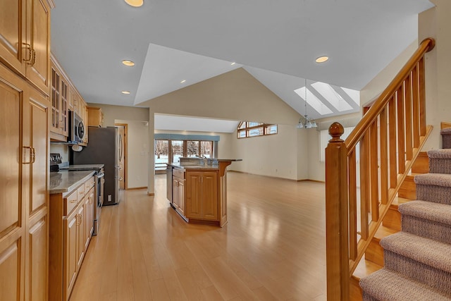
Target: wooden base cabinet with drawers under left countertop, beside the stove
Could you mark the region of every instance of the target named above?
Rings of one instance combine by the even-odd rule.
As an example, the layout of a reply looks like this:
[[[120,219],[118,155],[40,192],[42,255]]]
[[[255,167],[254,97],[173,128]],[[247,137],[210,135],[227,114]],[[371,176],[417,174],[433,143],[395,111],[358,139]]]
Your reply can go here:
[[[68,300],[94,230],[94,178],[50,195],[49,300]]]

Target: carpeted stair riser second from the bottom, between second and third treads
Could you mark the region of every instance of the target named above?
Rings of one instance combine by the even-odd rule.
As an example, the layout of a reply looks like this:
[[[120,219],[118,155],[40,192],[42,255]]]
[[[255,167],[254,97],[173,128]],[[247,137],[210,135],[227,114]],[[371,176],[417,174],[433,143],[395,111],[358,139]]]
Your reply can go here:
[[[451,244],[451,225],[445,223],[403,215],[402,231]]]

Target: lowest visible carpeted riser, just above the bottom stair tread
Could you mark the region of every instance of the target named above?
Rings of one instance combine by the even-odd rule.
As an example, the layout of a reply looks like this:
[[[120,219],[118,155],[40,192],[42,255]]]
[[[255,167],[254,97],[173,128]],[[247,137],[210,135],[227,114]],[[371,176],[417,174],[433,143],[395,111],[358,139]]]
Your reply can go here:
[[[432,266],[422,264],[414,259],[385,250],[385,268],[402,273],[407,277],[414,278],[429,285],[442,293],[451,292],[451,274],[435,269]]]

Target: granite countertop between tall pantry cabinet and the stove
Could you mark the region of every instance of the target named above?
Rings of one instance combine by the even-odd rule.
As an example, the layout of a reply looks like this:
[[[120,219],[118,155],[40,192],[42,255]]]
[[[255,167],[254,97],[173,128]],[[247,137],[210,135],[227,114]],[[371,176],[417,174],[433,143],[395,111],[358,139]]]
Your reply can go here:
[[[56,171],[50,173],[49,193],[71,192],[94,176],[95,171]]]

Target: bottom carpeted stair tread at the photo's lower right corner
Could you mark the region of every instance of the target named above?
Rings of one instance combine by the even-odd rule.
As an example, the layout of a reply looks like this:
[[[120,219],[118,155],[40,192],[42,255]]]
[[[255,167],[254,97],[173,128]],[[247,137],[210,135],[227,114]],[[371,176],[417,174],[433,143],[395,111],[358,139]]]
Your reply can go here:
[[[451,300],[432,288],[390,269],[381,269],[360,280],[364,292],[376,300]]]

